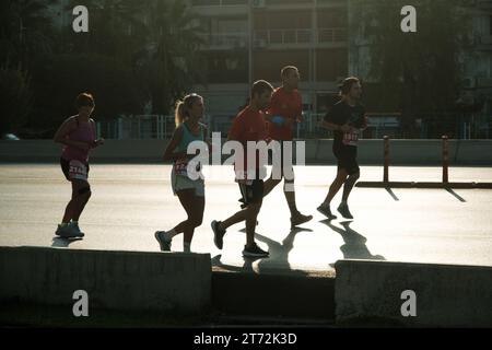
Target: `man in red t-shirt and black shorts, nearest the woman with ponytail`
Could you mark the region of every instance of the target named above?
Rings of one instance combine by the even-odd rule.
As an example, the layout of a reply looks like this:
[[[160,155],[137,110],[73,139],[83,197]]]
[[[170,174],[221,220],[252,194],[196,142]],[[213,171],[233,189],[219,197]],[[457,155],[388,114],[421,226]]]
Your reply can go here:
[[[256,154],[256,162],[250,164],[247,156],[247,142],[267,140],[268,132],[265,121],[265,110],[270,104],[273,88],[265,80],[259,80],[253,84],[251,98],[249,104],[233,120],[229,132],[229,140],[241,142],[243,145],[244,160],[237,159],[234,164],[236,171],[236,182],[239,184],[241,194],[245,208],[224,221],[212,221],[214,234],[213,242],[219,249],[222,249],[223,238],[227,228],[242,221],[246,221],[246,245],[243,250],[245,257],[268,257],[269,253],[261,249],[255,243],[256,219],[261,209],[263,200],[263,168],[266,164],[260,164],[260,158]],[[249,172],[254,176],[244,176]],[[254,178],[250,178],[254,177]]]

